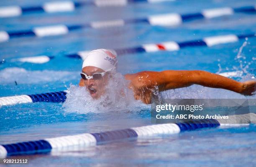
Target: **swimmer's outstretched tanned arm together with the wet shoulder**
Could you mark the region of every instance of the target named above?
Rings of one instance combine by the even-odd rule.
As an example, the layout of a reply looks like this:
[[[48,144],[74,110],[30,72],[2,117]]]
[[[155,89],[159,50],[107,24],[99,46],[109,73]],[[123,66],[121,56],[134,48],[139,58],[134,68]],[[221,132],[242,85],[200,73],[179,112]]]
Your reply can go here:
[[[218,74],[200,70],[166,70],[162,72],[143,71],[126,78],[134,87],[159,87],[159,91],[202,85],[205,87],[222,88],[243,95],[252,95],[256,89],[256,80],[238,82]]]

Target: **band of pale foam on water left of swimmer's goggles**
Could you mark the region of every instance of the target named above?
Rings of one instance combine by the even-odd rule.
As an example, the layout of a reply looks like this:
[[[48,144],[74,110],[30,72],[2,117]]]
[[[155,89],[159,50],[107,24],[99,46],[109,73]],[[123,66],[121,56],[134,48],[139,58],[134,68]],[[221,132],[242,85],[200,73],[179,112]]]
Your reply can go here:
[[[18,84],[31,84],[40,82],[68,81],[79,78],[79,72],[69,71],[29,71],[24,68],[12,67],[0,70],[0,84],[9,84],[16,81]]]

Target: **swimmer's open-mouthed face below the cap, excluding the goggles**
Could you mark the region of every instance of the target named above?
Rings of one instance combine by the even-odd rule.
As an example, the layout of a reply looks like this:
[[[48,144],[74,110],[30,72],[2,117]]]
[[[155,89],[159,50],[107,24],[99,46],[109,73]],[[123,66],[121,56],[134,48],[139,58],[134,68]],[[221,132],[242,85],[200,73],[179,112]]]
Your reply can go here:
[[[87,66],[82,69],[82,72],[89,76],[92,76],[97,72],[105,72],[105,71],[97,67]],[[102,76],[101,79],[90,79],[90,80],[83,80],[83,81],[91,97],[94,99],[98,99],[100,98],[101,95],[105,93],[105,86],[108,84],[108,73]]]

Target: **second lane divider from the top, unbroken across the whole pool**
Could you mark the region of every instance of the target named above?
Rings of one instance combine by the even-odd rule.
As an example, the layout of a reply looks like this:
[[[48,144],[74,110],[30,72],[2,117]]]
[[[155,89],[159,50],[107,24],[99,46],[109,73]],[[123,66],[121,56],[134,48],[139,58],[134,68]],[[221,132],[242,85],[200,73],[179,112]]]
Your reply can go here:
[[[15,32],[0,31],[0,42],[8,41],[15,37],[45,37],[54,35],[64,35],[68,34],[69,31],[79,30],[84,28],[103,28],[103,27],[118,27],[128,24],[146,23],[150,25],[159,26],[177,26],[182,24],[182,22],[187,22],[190,20],[197,19],[210,19],[213,17],[220,17],[223,15],[233,15],[234,12],[249,12],[255,13],[255,6],[250,7],[239,7],[239,8],[216,8],[207,9],[202,12],[184,14],[180,15],[178,13],[169,13],[163,15],[152,15],[147,18],[131,19],[131,20],[105,20],[105,21],[95,21],[84,25],[51,25],[43,27],[34,27],[32,30],[21,30]]]

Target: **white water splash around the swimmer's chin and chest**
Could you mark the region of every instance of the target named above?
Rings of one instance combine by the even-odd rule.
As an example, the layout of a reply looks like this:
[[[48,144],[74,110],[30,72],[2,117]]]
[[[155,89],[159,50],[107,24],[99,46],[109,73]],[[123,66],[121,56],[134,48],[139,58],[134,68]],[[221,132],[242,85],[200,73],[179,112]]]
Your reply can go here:
[[[128,88],[128,81],[120,73],[114,74],[106,85],[105,95],[92,99],[86,87],[70,85],[67,100],[63,107],[66,112],[86,114],[104,112],[136,112],[150,105],[134,100],[133,91]],[[121,93],[122,92],[122,93]]]

